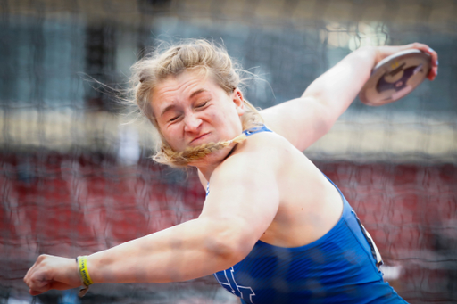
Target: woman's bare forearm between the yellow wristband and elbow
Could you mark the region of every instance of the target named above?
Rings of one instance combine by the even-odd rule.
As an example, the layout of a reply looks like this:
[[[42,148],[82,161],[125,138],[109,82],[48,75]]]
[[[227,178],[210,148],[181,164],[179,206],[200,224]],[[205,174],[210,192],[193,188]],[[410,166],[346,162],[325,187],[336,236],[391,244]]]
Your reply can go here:
[[[215,241],[220,234],[214,230],[218,234],[208,221],[191,220],[92,254],[87,268],[94,283],[164,283],[210,275],[231,267],[236,256]]]

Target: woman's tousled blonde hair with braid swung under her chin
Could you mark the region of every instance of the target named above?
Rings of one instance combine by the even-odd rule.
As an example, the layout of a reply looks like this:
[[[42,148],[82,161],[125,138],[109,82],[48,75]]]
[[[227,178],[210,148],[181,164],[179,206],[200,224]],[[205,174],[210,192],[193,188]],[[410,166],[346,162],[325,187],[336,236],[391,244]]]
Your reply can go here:
[[[202,72],[204,76],[209,75],[227,94],[232,94],[247,79],[242,79],[241,75],[252,74],[238,68],[237,63],[232,61],[222,45],[203,39],[188,39],[166,48],[164,46],[166,45],[162,44],[154,53],[135,63],[131,68],[130,78],[131,102],[152,122],[161,137],[161,143],[153,159],[171,167],[185,167],[190,161],[203,158],[229,144],[242,142],[245,139],[243,134],[232,140],[187,148],[183,152],[171,149],[162,136],[152,111],[151,97],[155,87],[170,76],[176,77],[186,70],[195,70]],[[244,100],[244,103],[245,114],[241,117],[243,129],[262,125],[263,119],[259,111],[248,101]]]

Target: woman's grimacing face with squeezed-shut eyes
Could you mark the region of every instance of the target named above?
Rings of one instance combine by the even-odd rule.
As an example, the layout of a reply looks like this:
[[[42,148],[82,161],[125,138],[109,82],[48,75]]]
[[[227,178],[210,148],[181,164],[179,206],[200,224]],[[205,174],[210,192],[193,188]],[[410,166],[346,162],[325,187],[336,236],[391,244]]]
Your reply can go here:
[[[152,109],[162,136],[174,151],[239,136],[245,112],[238,89],[227,94],[211,77],[185,71],[154,89]]]

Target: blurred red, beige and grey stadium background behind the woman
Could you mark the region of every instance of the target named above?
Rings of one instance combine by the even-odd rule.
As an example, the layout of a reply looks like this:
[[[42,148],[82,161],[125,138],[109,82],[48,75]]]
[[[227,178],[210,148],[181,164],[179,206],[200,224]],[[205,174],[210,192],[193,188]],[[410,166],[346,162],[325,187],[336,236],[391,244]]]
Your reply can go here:
[[[361,45],[426,43],[439,76],[398,103],[356,100],[304,153],[345,193],[413,303],[457,301],[457,1],[0,1],[0,303],[237,303],[212,276],[99,284],[32,299],[38,254],[76,257],[196,218],[195,172],[148,157],[151,127],[123,125],[114,94],[160,41],[223,43],[262,76],[267,108],[300,96]]]

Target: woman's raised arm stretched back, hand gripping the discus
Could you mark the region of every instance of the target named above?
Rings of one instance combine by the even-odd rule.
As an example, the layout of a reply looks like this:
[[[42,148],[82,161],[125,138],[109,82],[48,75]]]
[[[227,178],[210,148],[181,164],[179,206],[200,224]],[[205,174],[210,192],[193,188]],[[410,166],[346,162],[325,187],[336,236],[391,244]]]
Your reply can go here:
[[[437,75],[437,54],[428,45],[361,47],[314,80],[301,98],[262,111],[265,124],[300,151],[324,136],[359,94],[372,68],[387,56],[419,49],[432,56],[428,79]]]

